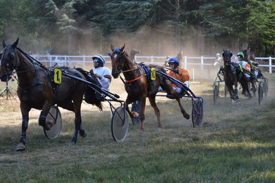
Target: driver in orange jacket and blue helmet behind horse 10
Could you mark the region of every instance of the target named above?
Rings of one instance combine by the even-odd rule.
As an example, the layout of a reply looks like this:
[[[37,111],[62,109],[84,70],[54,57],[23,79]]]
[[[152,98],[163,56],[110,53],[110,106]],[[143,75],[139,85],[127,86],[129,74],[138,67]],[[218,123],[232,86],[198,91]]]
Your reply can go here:
[[[171,76],[179,81],[181,81],[181,83],[184,83],[184,85],[186,85],[187,87],[189,87],[189,73],[186,69],[182,69],[179,67],[179,60],[175,57],[172,57],[168,60],[168,64],[171,68],[170,72],[168,72],[168,76]],[[180,93],[181,92],[181,88],[178,87],[175,84],[172,84],[173,89],[175,90],[175,92]]]

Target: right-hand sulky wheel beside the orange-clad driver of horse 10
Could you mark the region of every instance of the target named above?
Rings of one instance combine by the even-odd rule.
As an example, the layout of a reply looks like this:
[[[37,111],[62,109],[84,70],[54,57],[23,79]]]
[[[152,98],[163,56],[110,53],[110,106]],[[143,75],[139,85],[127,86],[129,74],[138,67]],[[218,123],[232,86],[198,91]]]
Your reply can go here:
[[[192,100],[192,124],[193,127],[201,127],[203,118],[203,102],[200,98]]]

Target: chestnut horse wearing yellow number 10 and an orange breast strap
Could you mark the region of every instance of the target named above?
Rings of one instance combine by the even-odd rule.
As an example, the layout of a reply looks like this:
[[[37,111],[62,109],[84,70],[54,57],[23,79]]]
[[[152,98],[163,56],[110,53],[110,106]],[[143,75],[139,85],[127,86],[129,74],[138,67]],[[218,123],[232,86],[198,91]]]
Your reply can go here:
[[[115,49],[115,47],[111,45],[112,75],[114,78],[118,78],[118,76],[120,76],[120,73],[123,73],[125,77],[125,89],[128,93],[128,96],[126,98],[126,111],[131,118],[137,118],[137,116],[140,115],[140,131],[144,131],[144,110],[146,97],[148,97],[150,104],[155,111],[155,115],[157,116],[157,127],[162,127],[160,122],[159,109],[155,103],[155,95],[157,94],[159,86],[161,86],[168,93],[168,95],[173,95],[175,97],[181,109],[181,114],[183,114],[184,118],[189,119],[190,116],[186,113],[184,107],[182,107],[179,95],[172,88],[171,81],[168,80],[168,78],[166,78],[165,76],[161,76],[160,74],[156,75],[155,80],[151,80],[151,78],[148,78],[148,73],[146,73],[145,71],[145,69],[150,70],[151,68],[155,68],[161,72],[166,73],[166,70],[163,67],[157,65],[141,66],[134,63],[130,60],[128,54],[123,51],[124,47],[125,45],[122,46],[120,49]],[[146,68],[144,69],[144,67]],[[136,100],[140,100],[141,103],[140,114],[129,111],[128,105],[135,102]]]

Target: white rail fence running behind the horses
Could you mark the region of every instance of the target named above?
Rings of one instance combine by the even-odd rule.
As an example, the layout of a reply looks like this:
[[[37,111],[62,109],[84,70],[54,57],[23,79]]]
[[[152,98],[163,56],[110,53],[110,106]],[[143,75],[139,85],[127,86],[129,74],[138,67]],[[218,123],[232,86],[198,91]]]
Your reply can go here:
[[[44,63],[48,67],[58,65],[58,66],[69,66],[69,67],[81,67],[81,66],[90,66],[91,65],[91,56],[66,56],[66,55],[32,55],[36,60]],[[111,63],[109,56],[104,56],[107,63]],[[210,56],[184,56],[181,61],[181,67],[185,69],[203,69],[212,68],[213,63],[216,57]],[[164,65],[166,56],[135,56],[137,62],[144,62],[145,64],[156,64]],[[272,70],[275,70],[275,64],[272,65],[272,60],[275,60],[275,57],[256,57],[257,61],[262,61],[266,64],[260,64],[260,67],[265,68],[265,72],[272,73]],[[199,67],[199,68],[198,68]],[[193,76],[194,77],[194,76]]]

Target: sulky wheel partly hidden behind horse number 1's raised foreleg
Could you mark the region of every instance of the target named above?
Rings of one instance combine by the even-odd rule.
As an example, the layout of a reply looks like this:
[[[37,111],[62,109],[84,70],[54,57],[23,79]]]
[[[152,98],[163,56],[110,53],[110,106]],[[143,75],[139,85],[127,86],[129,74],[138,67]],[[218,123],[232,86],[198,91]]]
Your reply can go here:
[[[46,130],[45,127],[43,128],[45,136],[51,139],[57,138],[61,133],[62,128],[61,112],[59,111],[58,107],[54,105],[52,106],[52,108],[49,111],[49,114],[47,114],[46,122],[53,123],[53,126],[50,130]]]

